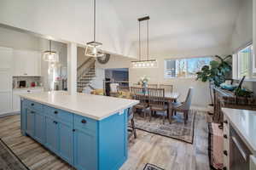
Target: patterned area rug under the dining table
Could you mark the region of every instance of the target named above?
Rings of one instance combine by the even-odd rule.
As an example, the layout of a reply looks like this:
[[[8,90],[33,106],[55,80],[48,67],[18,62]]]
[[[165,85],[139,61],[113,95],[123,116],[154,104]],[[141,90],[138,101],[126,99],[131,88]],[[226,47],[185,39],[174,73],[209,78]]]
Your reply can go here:
[[[195,116],[196,111],[189,111],[189,120],[187,124],[184,124],[183,113],[177,112],[177,115],[172,117],[171,124],[167,119],[165,124],[163,124],[162,116],[153,116],[151,122],[149,122],[148,116],[145,119],[143,116],[135,114],[134,122],[137,129],[193,144]]]

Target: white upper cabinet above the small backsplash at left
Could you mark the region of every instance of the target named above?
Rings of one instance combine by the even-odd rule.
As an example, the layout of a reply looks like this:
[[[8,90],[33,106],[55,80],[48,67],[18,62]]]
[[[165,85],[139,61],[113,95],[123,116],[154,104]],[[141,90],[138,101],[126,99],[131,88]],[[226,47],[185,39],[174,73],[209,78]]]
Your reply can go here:
[[[41,76],[41,53],[38,51],[14,51],[14,76]]]

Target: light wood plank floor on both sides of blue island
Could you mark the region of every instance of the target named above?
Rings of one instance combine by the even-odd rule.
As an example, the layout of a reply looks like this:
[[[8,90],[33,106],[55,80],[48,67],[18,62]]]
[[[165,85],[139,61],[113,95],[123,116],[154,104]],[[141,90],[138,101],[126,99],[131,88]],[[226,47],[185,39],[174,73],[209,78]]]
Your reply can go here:
[[[0,118],[0,138],[32,170],[72,169],[34,140],[21,136],[20,116]],[[131,137],[129,142],[128,154],[121,170],[143,170],[146,163],[166,170],[208,170],[207,116],[196,116],[194,144],[137,130],[137,139]]]

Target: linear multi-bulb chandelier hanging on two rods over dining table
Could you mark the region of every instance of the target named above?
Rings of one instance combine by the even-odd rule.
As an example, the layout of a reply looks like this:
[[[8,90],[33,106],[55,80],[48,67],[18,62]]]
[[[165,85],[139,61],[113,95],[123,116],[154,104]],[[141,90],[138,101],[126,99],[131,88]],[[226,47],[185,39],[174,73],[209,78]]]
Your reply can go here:
[[[139,22],[139,60],[138,61],[131,61],[132,68],[156,68],[157,67],[157,60],[156,59],[149,59],[149,48],[148,48],[148,20],[149,16],[145,16],[143,18],[137,19]],[[142,60],[142,43],[141,43],[141,22],[147,20],[147,59]]]

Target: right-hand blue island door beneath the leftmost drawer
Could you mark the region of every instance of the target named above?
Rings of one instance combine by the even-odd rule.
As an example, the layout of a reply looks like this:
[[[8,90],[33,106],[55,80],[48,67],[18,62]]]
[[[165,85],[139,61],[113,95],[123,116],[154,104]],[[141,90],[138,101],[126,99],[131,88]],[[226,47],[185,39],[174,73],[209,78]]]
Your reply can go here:
[[[44,144],[45,140],[45,118],[43,114],[38,111],[35,114],[35,139],[41,144]]]

